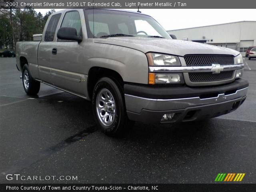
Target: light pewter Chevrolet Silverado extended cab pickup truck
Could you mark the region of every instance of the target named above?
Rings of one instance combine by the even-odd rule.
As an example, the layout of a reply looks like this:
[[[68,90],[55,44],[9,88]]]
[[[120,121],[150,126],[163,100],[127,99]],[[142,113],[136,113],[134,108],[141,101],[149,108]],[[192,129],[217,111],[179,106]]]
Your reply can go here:
[[[124,135],[135,121],[214,118],[246,99],[239,52],[172,39],[146,14],[61,10],[33,37],[16,45],[25,92],[38,94],[44,83],[90,100],[98,127],[110,136]]]

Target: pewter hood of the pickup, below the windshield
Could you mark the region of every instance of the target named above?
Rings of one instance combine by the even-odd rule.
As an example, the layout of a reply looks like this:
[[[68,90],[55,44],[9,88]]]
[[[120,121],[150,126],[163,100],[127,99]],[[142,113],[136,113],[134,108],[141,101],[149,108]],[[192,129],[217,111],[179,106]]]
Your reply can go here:
[[[96,38],[95,43],[111,44],[139,50],[184,56],[186,54],[228,54],[237,56],[236,50],[184,40],[144,37]]]

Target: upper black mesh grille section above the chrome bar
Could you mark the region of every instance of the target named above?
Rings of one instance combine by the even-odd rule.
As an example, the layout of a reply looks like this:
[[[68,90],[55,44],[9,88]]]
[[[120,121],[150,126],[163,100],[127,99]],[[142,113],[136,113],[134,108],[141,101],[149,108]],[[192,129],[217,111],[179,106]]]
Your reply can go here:
[[[212,66],[212,64],[233,65],[232,55],[185,55],[187,66]]]

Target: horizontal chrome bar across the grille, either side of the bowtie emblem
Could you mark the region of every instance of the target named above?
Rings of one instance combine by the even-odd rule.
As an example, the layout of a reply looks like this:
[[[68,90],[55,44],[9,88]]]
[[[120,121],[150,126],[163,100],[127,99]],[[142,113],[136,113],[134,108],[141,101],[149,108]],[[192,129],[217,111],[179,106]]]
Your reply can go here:
[[[244,68],[244,64],[237,65],[222,65],[223,71],[238,70]],[[190,73],[190,72],[212,72],[212,66],[180,66],[180,67],[159,67],[150,66],[148,67],[149,72],[160,72],[160,73]]]

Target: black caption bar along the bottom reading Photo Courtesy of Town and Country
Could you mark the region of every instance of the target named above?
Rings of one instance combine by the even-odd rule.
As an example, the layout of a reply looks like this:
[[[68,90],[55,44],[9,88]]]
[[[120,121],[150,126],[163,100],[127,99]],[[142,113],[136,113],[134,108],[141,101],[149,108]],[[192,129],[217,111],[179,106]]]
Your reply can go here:
[[[1,192],[253,192],[256,184],[0,184]]]

